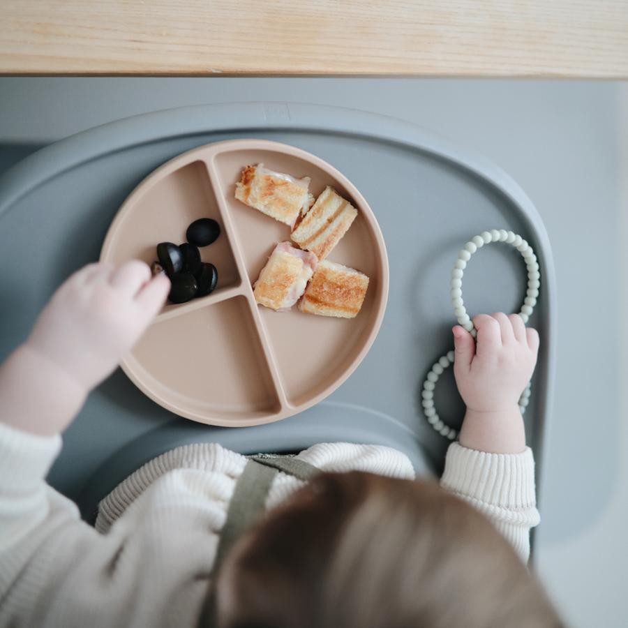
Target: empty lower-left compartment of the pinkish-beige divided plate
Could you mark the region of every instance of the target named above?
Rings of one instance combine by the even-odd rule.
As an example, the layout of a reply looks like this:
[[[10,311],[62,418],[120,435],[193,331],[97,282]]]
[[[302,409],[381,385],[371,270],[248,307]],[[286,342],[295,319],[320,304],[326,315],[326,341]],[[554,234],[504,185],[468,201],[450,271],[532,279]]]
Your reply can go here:
[[[281,410],[246,297],[157,322],[124,369],[155,401],[197,421],[235,426]]]

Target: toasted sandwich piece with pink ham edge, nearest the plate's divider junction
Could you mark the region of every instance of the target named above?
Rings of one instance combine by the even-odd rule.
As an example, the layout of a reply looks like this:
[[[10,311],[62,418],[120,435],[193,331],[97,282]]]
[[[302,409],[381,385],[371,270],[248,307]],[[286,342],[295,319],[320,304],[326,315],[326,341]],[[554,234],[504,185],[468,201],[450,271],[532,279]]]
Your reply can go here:
[[[290,309],[301,298],[317,263],[314,253],[281,242],[253,286],[255,301],[272,310]]]

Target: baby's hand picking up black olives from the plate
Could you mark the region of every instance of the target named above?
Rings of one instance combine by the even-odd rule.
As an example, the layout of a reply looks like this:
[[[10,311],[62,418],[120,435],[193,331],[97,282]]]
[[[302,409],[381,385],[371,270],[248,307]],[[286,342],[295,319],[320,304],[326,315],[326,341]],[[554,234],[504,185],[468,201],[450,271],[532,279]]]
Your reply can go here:
[[[110,375],[160,310],[170,290],[144,262],[100,262],[71,276],[38,318],[27,345],[86,391]]]

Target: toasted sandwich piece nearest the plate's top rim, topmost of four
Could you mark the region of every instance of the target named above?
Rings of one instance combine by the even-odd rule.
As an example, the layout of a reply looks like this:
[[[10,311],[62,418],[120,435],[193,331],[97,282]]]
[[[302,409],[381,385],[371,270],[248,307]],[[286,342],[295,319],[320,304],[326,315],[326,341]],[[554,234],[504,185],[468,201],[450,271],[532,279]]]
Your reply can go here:
[[[248,165],[236,184],[235,197],[249,207],[259,209],[280,223],[294,226],[314,202],[309,193],[310,177],[294,179],[290,174],[274,172],[263,163]]]

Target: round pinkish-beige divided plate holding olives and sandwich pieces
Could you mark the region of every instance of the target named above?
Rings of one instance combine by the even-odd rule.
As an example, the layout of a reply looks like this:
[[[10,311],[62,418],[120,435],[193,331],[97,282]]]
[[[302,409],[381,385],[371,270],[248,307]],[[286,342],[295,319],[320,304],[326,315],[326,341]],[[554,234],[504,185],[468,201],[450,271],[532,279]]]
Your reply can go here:
[[[234,198],[248,164],[311,177],[314,195],[331,185],[359,214],[328,259],[366,273],[371,282],[354,319],[277,313],[257,306],[252,283],[290,227]],[[388,296],[382,232],[359,191],[322,159],[265,140],[218,142],[180,155],[144,179],[107,232],[101,260],[156,259],[162,241],[180,244],[197,218],[218,220],[218,240],[200,248],[218,269],[207,297],[166,304],[122,361],[151,399],[188,419],[249,426],[297,414],[331,394],[373,344]]]

